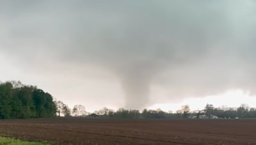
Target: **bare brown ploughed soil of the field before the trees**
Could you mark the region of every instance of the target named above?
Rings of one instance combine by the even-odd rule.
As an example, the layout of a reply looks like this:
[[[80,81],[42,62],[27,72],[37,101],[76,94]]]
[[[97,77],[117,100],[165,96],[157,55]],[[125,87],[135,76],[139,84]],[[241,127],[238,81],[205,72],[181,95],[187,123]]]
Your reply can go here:
[[[256,120],[0,120],[0,135],[55,144],[256,144]]]

